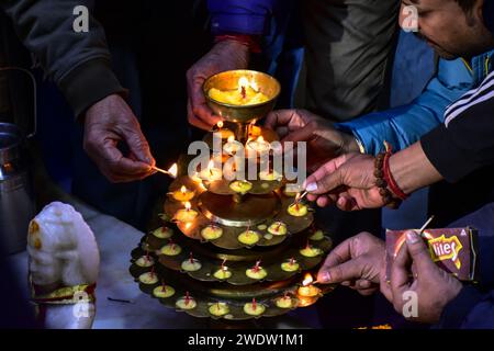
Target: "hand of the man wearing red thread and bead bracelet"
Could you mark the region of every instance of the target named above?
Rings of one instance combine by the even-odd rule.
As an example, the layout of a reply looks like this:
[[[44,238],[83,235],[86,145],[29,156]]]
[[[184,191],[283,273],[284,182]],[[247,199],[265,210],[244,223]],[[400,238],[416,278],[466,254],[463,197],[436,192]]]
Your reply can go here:
[[[305,188],[307,200],[321,207],[336,204],[341,211],[359,211],[385,205],[375,185],[374,158],[369,155],[346,154],[326,162],[307,178]]]

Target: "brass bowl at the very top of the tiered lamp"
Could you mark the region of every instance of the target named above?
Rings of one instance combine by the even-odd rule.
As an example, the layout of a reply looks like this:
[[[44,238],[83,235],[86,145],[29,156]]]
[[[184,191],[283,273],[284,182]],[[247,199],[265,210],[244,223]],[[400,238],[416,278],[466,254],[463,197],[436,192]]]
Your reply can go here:
[[[258,104],[237,105],[220,102],[210,97],[210,90],[212,88],[222,91],[238,90],[238,82],[243,77],[249,82],[255,82],[259,89],[258,91],[262,92],[268,98],[268,101]],[[213,110],[214,114],[221,116],[225,121],[244,124],[260,120],[271,112],[274,109],[280,91],[281,86],[273,77],[246,69],[228,70],[214,75],[210,77],[203,86],[207,105]]]

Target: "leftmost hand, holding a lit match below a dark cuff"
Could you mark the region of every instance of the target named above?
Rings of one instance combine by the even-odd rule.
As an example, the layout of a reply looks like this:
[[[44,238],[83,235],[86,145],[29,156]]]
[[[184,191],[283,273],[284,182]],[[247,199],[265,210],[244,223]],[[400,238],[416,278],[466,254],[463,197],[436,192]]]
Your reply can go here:
[[[125,143],[130,155],[122,155]],[[85,115],[83,148],[108,180],[114,183],[142,180],[154,173],[149,145],[127,103],[116,94],[88,109]]]

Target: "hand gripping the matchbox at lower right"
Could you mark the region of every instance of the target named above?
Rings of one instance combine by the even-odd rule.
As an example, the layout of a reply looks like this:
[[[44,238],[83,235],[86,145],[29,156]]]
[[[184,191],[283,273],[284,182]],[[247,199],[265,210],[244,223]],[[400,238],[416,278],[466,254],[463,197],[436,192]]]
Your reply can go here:
[[[446,305],[462,288],[462,284],[454,276],[434,263],[427,245],[415,231],[406,233],[406,244],[391,267],[390,283],[385,282],[384,275],[381,274],[381,292],[397,313],[403,314],[403,307],[407,303],[404,293],[408,291],[416,293],[417,316],[407,317],[414,321],[438,322]]]

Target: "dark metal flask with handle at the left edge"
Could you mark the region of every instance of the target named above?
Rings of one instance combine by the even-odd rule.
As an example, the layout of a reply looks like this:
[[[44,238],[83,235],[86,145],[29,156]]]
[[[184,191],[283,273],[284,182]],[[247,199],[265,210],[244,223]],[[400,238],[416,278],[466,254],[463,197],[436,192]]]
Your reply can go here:
[[[21,68],[0,67],[0,73],[7,70],[29,75],[34,87],[33,97],[36,95],[36,84],[31,72]],[[7,84],[3,84],[0,88],[4,89],[5,87]],[[8,94],[0,94],[0,105],[12,105],[5,101],[5,95]],[[19,100],[22,102],[19,94],[13,95],[18,97],[18,104]],[[35,109],[36,103],[34,102]],[[0,123],[0,247],[8,254],[25,250],[27,227],[35,214],[26,147],[27,138],[32,137],[36,131],[35,113],[34,121],[33,133],[27,136],[15,124]]]

